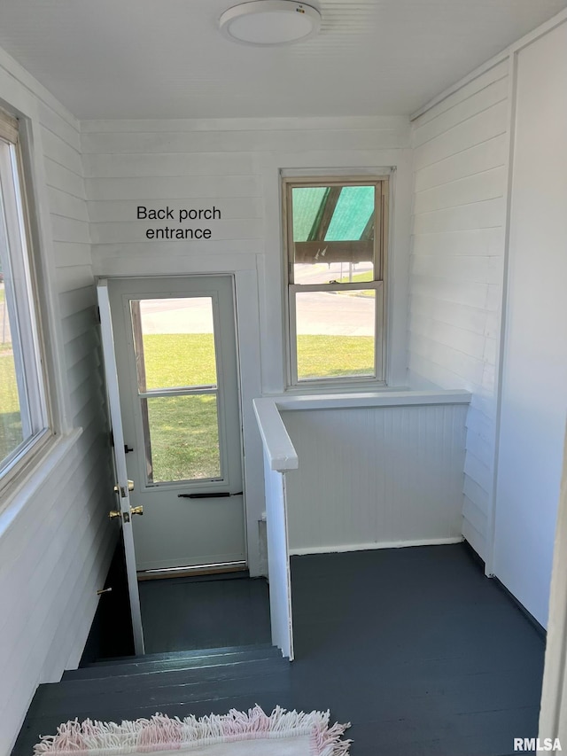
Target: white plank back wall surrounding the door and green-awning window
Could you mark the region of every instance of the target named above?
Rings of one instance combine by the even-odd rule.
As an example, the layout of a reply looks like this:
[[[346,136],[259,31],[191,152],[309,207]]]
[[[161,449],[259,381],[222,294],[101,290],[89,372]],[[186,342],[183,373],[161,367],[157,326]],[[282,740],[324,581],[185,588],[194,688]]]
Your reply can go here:
[[[397,167],[392,177],[389,340],[390,380],[400,384],[406,373],[408,141],[405,118],[82,123],[95,273],[148,276],[239,271],[238,331],[241,355],[243,348],[247,353],[241,360],[246,370],[243,387],[252,392],[244,397],[252,574],[260,569],[258,520],[264,508],[261,446],[252,398],[281,393],[284,388],[278,171]],[[206,222],[213,232],[209,240],[156,242],[145,237],[145,230],[166,224],[136,220],[138,205],[175,209],[215,205],[221,209],[221,220]],[[239,290],[238,276],[242,275],[248,276],[249,285]]]

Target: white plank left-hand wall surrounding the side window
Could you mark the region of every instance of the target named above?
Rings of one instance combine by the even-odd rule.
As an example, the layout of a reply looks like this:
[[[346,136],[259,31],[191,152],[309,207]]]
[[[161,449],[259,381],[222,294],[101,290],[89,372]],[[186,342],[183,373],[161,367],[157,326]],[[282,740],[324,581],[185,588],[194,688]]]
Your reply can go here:
[[[3,51],[0,99],[27,117],[32,137],[67,435],[0,510],[0,752],[9,753],[37,684],[80,659],[114,539],[78,123]]]

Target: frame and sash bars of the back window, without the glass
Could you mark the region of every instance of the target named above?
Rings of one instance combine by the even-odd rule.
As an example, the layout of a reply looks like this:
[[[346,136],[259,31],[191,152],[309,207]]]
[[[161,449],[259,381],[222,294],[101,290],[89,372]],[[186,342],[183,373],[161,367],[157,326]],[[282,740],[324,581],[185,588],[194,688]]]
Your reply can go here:
[[[354,284],[295,284],[293,281],[293,216],[291,191],[295,187],[316,186],[369,186],[375,187],[375,213],[379,224],[374,234],[374,280]],[[283,259],[284,285],[286,295],[285,342],[286,342],[286,390],[321,390],[325,387],[334,390],[353,391],[385,386],[386,376],[386,289],[388,258],[388,221],[389,221],[389,175],[357,175],[355,173],[329,175],[317,172],[315,175],[283,175],[282,177],[282,218],[283,218]],[[375,221],[376,223],[376,221]],[[296,294],[298,292],[336,292],[360,291],[373,289],[375,300],[375,372],[374,376],[345,376],[343,378],[308,378],[299,380],[297,361],[296,328]]]

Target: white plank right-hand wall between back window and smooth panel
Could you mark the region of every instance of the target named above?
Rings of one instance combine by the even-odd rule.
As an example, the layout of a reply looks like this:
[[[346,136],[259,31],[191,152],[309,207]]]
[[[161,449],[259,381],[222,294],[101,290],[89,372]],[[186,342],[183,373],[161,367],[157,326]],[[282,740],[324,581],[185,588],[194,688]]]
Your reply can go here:
[[[413,388],[466,388],[462,533],[486,557],[506,223],[509,61],[414,122],[408,369]]]

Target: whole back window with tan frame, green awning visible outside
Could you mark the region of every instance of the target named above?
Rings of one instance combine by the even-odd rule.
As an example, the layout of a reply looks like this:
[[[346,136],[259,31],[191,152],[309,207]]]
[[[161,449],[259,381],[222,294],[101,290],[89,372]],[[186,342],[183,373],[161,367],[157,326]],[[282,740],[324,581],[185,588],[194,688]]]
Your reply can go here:
[[[384,381],[388,179],[283,179],[291,386]]]

